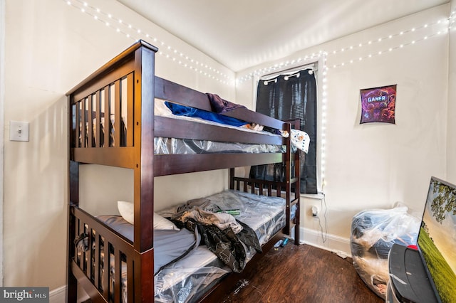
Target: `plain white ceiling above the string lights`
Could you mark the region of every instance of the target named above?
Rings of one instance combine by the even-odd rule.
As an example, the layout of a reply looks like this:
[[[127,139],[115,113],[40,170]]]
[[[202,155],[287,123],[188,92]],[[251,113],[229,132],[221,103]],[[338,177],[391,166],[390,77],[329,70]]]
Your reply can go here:
[[[118,0],[239,71],[449,0]]]

